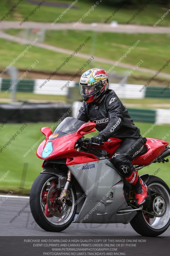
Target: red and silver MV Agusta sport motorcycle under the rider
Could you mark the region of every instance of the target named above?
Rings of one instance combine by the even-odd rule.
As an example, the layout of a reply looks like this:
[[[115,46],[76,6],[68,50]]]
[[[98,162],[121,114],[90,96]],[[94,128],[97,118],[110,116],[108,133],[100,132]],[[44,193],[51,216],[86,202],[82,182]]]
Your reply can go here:
[[[143,236],[159,236],[170,225],[170,189],[157,176],[143,174],[148,187],[145,204],[136,207],[131,185],[109,161],[121,140],[89,144],[84,135],[95,123],[65,118],[52,133],[41,128],[46,139],[37,149],[43,171],[33,182],[30,207],[36,223],[46,231],[60,232],[74,223],[124,223]],[[132,164],[143,167],[168,162],[169,143],[146,138]]]

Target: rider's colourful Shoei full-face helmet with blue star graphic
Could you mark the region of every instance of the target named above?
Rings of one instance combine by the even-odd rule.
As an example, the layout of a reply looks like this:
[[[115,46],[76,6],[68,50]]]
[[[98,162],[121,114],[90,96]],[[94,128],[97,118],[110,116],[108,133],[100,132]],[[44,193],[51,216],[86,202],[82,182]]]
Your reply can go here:
[[[89,69],[81,76],[79,86],[84,101],[97,100],[109,87],[107,72],[99,68]]]

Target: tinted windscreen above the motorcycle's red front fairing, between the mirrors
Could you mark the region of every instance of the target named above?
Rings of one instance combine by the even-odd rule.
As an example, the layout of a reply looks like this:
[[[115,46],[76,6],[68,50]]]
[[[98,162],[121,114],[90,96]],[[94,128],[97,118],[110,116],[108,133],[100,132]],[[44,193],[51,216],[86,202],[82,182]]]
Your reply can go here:
[[[55,129],[53,134],[49,137],[49,140],[53,140],[64,135],[77,132],[77,130],[86,122],[80,121],[74,117],[66,117]]]

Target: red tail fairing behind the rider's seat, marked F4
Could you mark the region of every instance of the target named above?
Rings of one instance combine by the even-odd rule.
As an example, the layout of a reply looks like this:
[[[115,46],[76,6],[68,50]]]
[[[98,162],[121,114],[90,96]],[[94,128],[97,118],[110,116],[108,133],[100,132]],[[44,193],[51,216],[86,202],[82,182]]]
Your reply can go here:
[[[146,138],[147,142],[144,143],[146,145],[148,151],[141,156],[137,156],[131,163],[134,165],[148,165],[150,164],[156,157],[160,156],[164,151],[165,147],[169,144],[165,140],[159,140],[154,138]]]

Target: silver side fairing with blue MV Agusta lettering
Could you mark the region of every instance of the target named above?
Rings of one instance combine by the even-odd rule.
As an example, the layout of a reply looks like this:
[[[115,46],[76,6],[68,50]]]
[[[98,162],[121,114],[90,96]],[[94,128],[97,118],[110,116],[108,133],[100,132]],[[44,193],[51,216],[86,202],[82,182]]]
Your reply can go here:
[[[68,168],[86,194],[85,202],[74,222],[126,224],[137,214],[116,214],[120,209],[132,208],[124,199],[123,180],[108,159],[70,165]]]

